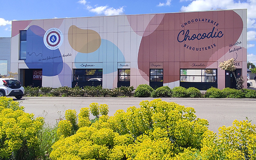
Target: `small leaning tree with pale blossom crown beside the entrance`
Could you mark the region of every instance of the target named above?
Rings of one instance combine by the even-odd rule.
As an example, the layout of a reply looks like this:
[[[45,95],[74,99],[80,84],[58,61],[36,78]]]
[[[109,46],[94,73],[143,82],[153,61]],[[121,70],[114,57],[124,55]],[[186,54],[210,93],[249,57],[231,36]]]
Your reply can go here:
[[[235,70],[237,69],[237,67],[234,64],[234,61],[235,61],[234,58],[231,58],[230,60],[220,62],[219,67],[220,67],[220,69],[228,70],[228,71],[232,72],[235,77],[236,83],[237,83],[237,89],[242,89],[241,88],[242,85],[238,85],[238,79],[235,75]]]

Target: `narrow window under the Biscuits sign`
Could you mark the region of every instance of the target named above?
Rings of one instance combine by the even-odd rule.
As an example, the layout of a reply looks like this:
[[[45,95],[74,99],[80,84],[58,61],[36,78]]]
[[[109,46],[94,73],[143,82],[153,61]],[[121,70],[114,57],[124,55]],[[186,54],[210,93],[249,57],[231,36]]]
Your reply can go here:
[[[130,86],[130,69],[118,70],[118,83],[117,87]]]

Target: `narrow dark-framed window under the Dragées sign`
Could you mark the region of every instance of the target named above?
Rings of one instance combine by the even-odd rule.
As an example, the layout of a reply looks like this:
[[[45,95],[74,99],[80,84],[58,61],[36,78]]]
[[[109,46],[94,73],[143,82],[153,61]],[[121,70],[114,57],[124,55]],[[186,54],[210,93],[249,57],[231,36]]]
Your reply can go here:
[[[163,86],[163,69],[150,69],[150,83],[152,88]]]

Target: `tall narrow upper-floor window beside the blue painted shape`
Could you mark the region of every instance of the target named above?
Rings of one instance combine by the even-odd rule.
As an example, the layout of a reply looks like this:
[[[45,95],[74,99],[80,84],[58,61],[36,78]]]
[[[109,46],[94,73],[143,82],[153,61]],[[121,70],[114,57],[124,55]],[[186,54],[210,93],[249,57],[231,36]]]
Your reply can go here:
[[[27,31],[21,30],[19,37],[19,60],[26,60],[27,53]]]

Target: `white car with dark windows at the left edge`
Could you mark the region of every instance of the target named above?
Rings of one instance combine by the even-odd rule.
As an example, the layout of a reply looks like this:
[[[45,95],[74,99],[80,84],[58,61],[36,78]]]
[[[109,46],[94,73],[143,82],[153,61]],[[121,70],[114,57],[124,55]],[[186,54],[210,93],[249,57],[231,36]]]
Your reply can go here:
[[[24,96],[24,87],[17,79],[0,78],[0,97],[15,96],[20,99]]]

